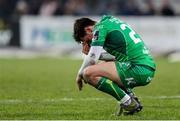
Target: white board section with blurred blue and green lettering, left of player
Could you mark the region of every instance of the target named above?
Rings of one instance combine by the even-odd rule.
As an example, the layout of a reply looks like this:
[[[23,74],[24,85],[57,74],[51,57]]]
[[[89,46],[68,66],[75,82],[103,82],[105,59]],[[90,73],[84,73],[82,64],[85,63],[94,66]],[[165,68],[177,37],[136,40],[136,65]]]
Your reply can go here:
[[[71,17],[25,16],[20,21],[20,38],[23,48],[72,48],[73,19]]]

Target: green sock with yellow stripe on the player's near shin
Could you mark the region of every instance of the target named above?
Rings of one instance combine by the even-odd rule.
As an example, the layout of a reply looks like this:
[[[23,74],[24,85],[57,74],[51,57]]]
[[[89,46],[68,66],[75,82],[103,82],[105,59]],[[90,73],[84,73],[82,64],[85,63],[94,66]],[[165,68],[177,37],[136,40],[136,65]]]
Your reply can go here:
[[[96,88],[112,95],[118,101],[127,95],[121,88],[118,87],[116,83],[104,77],[99,80]]]

